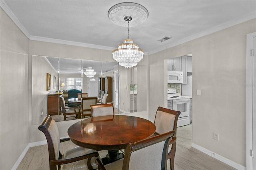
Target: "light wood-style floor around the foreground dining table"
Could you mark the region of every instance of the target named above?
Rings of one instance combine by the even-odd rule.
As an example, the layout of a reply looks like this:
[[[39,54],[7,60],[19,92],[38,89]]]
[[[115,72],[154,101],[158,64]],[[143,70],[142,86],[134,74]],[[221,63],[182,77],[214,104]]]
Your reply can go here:
[[[175,156],[175,170],[235,170],[231,166],[224,164],[208,156],[199,150],[191,147],[192,124],[177,128],[177,145]],[[61,152],[73,148],[75,145],[71,142],[62,142]],[[100,157],[104,157],[107,151],[99,151]],[[167,162],[167,168],[170,170],[170,163]],[[47,145],[29,148],[22,159],[17,170],[48,170],[48,147]]]

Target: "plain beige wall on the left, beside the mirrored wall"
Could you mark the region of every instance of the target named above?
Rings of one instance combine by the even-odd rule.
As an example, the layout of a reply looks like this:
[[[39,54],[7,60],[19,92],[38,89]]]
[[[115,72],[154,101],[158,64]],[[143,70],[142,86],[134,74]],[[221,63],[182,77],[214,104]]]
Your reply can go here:
[[[28,38],[0,8],[0,169],[10,170],[29,142]]]

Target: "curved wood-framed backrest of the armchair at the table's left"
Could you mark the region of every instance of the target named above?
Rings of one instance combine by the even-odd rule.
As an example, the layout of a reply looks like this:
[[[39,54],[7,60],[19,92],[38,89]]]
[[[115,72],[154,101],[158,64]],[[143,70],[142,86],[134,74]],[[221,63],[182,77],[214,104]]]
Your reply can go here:
[[[46,137],[48,144],[49,160],[57,160],[60,153],[60,135],[56,122],[46,115],[38,129],[42,131]],[[57,166],[50,165],[50,169],[56,169]]]

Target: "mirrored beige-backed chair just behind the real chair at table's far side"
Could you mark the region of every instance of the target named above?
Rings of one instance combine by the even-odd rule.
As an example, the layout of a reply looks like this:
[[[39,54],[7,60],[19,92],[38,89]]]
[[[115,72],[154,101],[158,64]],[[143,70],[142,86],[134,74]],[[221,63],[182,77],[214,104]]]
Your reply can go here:
[[[91,105],[96,105],[97,97],[82,97],[80,113],[82,117],[92,116]]]

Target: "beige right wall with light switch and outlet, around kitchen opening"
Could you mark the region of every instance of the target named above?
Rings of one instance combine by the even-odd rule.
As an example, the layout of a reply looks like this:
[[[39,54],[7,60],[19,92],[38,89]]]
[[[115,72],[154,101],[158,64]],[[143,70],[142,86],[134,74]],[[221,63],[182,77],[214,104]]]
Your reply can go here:
[[[202,95],[193,95],[192,142],[242,166],[246,166],[246,34],[252,32],[256,19],[149,56],[151,67],[170,57],[193,54],[192,90],[196,94],[201,89]],[[219,141],[213,140],[213,132],[219,134]]]

